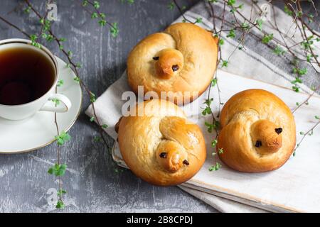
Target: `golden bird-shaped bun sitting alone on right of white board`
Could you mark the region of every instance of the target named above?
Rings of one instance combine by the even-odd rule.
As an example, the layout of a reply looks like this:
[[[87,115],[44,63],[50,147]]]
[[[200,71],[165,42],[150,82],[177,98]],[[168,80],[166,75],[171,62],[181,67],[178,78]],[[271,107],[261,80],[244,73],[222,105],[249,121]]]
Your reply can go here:
[[[250,89],[232,96],[221,111],[217,149],[234,170],[276,170],[296,144],[296,126],[289,107],[274,94]]]

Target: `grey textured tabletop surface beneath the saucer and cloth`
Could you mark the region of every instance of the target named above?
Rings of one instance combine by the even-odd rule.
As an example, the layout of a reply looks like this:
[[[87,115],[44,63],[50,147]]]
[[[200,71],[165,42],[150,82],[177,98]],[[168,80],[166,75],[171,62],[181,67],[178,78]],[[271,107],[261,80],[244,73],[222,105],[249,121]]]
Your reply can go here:
[[[0,0],[0,14],[28,33],[36,33],[38,19],[33,13],[22,13],[21,2]],[[169,2],[136,0],[129,5],[119,0],[100,1],[100,11],[107,14],[109,21],[119,24],[119,36],[111,38],[109,28],[100,28],[82,9],[80,1],[61,0],[57,1],[58,21],[53,29],[68,39],[65,49],[73,50],[75,60],[82,62],[82,78],[100,95],[122,74],[127,54],[137,41],[166,28],[178,17],[178,11],[166,8]],[[185,2],[190,7],[197,1]],[[44,9],[45,1],[31,3]],[[0,21],[0,40],[5,38],[24,37]],[[62,56],[55,43],[47,46]],[[63,187],[68,191],[64,211],[215,211],[178,187],[155,187],[134,177],[129,170],[115,172],[105,145],[93,142],[98,134],[95,123],[90,123],[84,114],[88,104],[85,96],[82,114],[70,130],[72,140],[62,150],[62,160],[74,170],[63,177]],[[112,145],[113,141],[109,142]],[[55,160],[55,144],[21,155],[0,155],[0,211],[55,211],[48,200],[58,184],[47,173],[49,163]]]

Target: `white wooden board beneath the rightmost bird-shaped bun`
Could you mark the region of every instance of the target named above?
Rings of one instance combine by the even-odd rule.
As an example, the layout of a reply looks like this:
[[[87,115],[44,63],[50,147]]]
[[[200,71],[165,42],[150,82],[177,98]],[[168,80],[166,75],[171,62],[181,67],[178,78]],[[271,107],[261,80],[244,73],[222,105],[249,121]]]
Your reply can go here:
[[[296,107],[297,102],[301,103],[308,97],[308,94],[296,93],[291,89],[221,70],[218,72],[218,79],[223,103],[228,101],[233,94],[253,88],[265,89],[276,94],[291,109]],[[218,92],[212,92],[212,97],[217,104]],[[199,103],[203,103],[204,99],[206,99],[206,94],[199,97]],[[190,106],[185,106],[184,109],[191,120],[201,113],[201,109],[190,109]],[[302,106],[294,113],[297,123],[297,141],[302,138],[300,131],[306,131],[316,123],[315,115],[320,115],[319,96],[313,96],[309,105]],[[279,170],[259,174],[243,173],[223,165],[220,170],[209,172],[209,167],[215,163],[211,155],[213,148],[210,146],[215,134],[206,131],[205,121],[210,121],[210,116],[200,117],[197,123],[203,128],[206,138],[207,160],[201,171],[183,186],[269,211],[320,211],[320,127],[314,130],[314,135],[306,137],[297,150],[296,156],[290,157]],[[121,159],[117,149],[114,150],[114,158],[117,161]]]

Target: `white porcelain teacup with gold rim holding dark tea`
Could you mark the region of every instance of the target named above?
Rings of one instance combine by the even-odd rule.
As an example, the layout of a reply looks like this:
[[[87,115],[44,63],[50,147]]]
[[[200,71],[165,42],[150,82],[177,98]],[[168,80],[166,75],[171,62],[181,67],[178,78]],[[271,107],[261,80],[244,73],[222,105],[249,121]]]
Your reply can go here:
[[[38,51],[46,57],[50,64],[52,64],[55,70],[55,78],[52,86],[46,94],[43,94],[40,98],[30,101],[26,104],[19,105],[4,105],[0,104],[0,117],[9,120],[23,120],[38,111],[50,111],[56,113],[63,113],[71,108],[71,101],[63,94],[55,94],[55,87],[58,82],[58,62],[55,60],[54,55],[45,47],[36,48],[31,45],[30,40],[24,39],[8,39],[0,41],[0,52],[9,48],[31,48],[32,50]],[[61,104],[58,106],[53,105],[53,100],[58,99]]]

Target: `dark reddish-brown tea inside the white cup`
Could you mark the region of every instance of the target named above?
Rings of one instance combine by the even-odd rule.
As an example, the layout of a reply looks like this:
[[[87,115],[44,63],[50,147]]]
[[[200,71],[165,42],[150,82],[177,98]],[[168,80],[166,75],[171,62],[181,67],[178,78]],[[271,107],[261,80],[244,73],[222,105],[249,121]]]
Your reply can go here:
[[[0,104],[27,104],[46,94],[54,82],[55,67],[40,50],[0,50]]]

